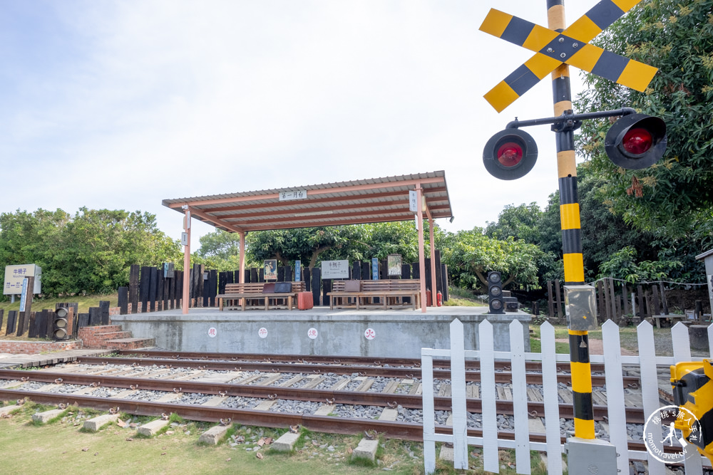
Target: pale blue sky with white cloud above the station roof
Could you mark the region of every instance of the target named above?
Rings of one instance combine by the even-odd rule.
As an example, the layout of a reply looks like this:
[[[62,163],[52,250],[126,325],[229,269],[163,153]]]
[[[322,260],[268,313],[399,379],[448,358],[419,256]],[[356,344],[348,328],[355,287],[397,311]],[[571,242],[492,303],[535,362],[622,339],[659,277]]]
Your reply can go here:
[[[570,23],[596,1],[582,3]],[[437,169],[445,229],[543,206],[549,127],[528,128],[526,177],[483,167],[515,116],[553,113],[549,78],[501,114],[483,99],[531,56],[478,31],[491,6],[546,26],[545,1],[4,1],[0,212],[140,209],[179,239],[162,199]]]

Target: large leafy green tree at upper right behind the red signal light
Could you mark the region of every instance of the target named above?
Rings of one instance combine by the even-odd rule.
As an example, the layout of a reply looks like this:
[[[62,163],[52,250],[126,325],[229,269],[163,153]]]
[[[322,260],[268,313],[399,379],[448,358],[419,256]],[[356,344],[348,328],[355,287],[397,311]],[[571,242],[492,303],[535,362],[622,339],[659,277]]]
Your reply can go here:
[[[642,2],[597,38],[598,46],[659,68],[644,93],[594,75],[579,112],[630,106],[667,124],[657,164],[625,170],[610,162],[603,139],[610,120],[588,120],[578,151],[602,177],[599,192],[616,214],[662,239],[708,237],[713,219],[713,1]],[[704,236],[697,235],[707,226]]]

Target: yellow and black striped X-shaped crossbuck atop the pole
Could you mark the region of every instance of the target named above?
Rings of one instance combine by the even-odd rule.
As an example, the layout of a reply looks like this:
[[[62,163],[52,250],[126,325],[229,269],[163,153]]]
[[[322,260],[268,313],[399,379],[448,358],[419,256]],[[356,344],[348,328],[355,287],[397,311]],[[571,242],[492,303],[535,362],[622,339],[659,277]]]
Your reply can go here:
[[[486,100],[502,112],[562,63],[635,90],[645,90],[657,68],[589,43],[639,1],[602,0],[561,33],[491,9],[481,31],[535,51],[535,56],[486,93]]]

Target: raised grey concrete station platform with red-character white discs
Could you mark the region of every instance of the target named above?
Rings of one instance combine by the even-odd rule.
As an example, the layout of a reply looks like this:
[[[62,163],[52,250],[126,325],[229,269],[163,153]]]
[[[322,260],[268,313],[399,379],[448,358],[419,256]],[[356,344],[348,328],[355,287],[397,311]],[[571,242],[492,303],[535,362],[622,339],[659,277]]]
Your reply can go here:
[[[493,315],[487,307],[428,307],[421,310],[223,310],[191,308],[152,313],[112,315],[137,338],[155,338],[158,348],[171,351],[272,353],[279,355],[344,355],[421,357],[421,348],[450,348],[449,325],[458,318],[466,334],[466,350],[478,349],[478,324],[493,325],[495,349],[510,350],[508,325],[525,327],[525,351],[530,350],[531,315]]]

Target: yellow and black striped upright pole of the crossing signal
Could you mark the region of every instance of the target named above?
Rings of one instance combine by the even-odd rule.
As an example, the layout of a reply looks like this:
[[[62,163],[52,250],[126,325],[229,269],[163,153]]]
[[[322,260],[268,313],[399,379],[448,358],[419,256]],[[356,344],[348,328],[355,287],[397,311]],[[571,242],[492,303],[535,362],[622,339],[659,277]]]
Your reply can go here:
[[[547,0],[547,20],[550,29],[559,32],[565,30],[564,0]],[[555,117],[562,115],[565,110],[572,110],[569,66],[564,63],[552,73],[552,92]],[[584,262],[577,196],[574,131],[555,132],[555,140],[560,186],[560,221],[565,285],[582,285],[584,284]],[[569,333],[575,437],[594,439],[592,371],[589,362],[588,332],[586,330],[569,330]]]

